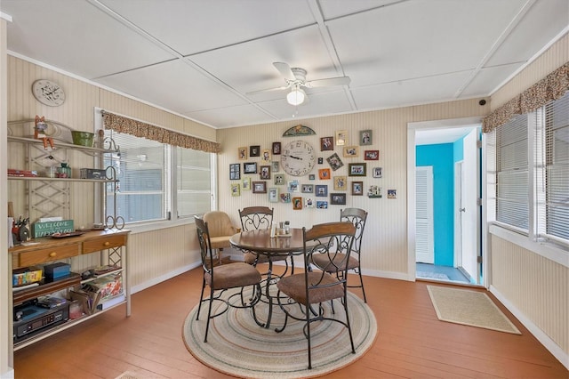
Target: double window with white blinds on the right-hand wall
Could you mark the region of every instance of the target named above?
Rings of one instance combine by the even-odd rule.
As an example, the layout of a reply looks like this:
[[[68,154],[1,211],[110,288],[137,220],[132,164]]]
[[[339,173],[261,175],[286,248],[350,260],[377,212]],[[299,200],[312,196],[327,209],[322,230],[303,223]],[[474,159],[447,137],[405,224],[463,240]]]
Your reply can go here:
[[[569,246],[569,92],[495,128],[486,147],[489,221]]]

